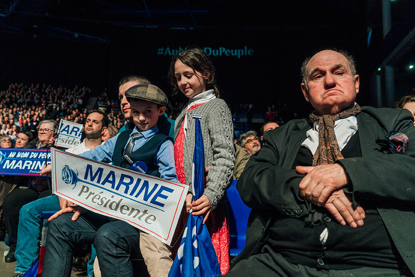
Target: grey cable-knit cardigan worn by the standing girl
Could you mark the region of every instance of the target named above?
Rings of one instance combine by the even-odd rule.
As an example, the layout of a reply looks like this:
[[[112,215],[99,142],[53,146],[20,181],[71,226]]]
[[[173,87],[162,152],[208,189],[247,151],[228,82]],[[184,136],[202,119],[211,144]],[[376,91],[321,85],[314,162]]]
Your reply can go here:
[[[209,167],[205,194],[212,209],[216,208],[232,180],[235,165],[233,147],[233,125],[231,111],[222,99],[214,98],[199,107],[188,111],[187,105],[177,117],[174,137],[177,138],[183,120],[187,118],[187,138],[183,141],[184,174],[187,185],[192,187],[192,162],[195,149],[195,119],[193,114],[202,115],[200,119],[203,145],[205,148],[205,167]]]

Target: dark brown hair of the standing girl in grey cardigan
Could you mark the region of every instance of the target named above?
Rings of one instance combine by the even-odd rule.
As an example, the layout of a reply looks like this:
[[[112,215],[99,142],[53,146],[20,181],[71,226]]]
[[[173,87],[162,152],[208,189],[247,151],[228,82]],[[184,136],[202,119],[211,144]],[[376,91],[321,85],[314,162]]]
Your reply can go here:
[[[198,47],[186,49],[171,58],[170,67],[168,69],[168,79],[170,85],[173,87],[173,95],[178,92],[177,80],[176,76],[174,76],[174,64],[177,60],[180,60],[185,65],[191,67],[195,74],[197,74],[196,71],[210,73],[210,76],[206,80],[206,89],[213,89],[216,97],[220,97],[219,89],[216,85],[213,63],[207,53]]]

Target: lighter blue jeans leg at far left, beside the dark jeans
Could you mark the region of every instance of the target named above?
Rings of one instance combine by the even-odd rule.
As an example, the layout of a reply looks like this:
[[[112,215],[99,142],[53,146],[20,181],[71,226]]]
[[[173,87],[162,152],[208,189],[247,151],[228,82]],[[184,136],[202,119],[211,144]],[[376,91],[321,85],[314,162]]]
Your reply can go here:
[[[42,218],[39,212],[59,211],[57,195],[50,195],[24,205],[20,209],[14,273],[24,274],[39,259],[39,238]]]

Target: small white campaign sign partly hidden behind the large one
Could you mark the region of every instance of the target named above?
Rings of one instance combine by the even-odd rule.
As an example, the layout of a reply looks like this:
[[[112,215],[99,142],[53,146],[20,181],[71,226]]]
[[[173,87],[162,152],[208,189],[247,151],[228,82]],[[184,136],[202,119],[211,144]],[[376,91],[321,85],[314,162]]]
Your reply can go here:
[[[59,123],[55,146],[64,148],[77,146],[81,143],[82,128],[82,124],[62,119]]]

